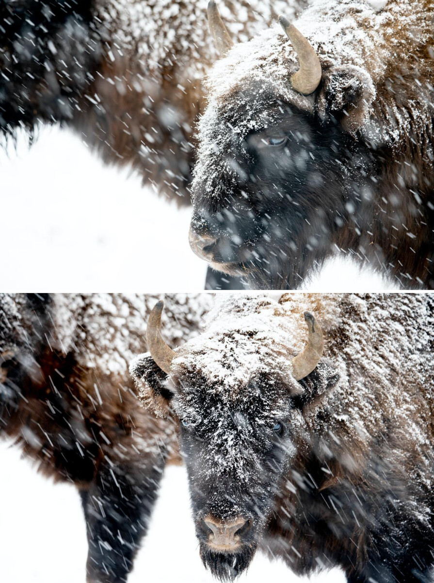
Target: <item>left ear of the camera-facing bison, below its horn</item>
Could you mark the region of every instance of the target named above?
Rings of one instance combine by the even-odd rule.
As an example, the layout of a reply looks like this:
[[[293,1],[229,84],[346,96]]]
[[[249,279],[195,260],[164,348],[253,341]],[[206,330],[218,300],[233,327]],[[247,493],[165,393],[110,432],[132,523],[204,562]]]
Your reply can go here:
[[[130,364],[130,375],[134,379],[143,406],[157,417],[168,415],[173,392],[166,387],[168,375],[155,364],[150,353],[136,356]]]

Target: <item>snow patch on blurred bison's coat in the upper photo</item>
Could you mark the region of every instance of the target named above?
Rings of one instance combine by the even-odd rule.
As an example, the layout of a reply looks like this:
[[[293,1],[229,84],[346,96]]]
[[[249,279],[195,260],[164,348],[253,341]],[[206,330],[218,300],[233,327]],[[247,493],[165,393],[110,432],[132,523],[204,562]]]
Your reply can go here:
[[[286,10],[294,15],[304,2],[283,0],[233,0],[219,2],[219,10],[234,39],[247,41],[273,15]],[[162,66],[179,65],[187,80],[201,79],[209,64],[218,58],[207,23],[208,0],[109,0],[99,17],[109,29],[116,29],[116,44],[134,51],[144,71],[159,73]],[[175,56],[177,55],[177,56]]]

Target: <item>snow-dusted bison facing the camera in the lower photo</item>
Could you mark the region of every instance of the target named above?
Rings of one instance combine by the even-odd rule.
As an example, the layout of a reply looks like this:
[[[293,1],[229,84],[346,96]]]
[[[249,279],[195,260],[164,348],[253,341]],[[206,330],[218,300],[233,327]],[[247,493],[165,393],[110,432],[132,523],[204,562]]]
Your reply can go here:
[[[204,565],[232,580],[259,549],[300,575],[431,581],[434,296],[237,294],[175,350],[162,309],[130,370],[181,420]]]

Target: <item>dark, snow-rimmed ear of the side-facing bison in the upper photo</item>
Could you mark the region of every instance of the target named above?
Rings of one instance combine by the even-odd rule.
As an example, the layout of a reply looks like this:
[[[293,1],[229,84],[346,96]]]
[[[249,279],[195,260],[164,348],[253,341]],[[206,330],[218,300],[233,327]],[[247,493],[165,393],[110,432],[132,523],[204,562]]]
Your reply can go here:
[[[375,99],[371,75],[355,65],[325,69],[316,108],[322,121],[334,118],[351,135],[355,135],[368,117]]]

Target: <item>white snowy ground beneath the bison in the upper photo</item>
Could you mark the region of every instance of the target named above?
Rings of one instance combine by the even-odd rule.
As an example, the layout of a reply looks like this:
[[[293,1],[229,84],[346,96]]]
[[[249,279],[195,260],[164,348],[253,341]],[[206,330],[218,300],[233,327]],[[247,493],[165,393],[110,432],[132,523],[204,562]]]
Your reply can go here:
[[[104,166],[77,136],[44,129],[29,150],[0,149],[0,291],[198,291],[206,264],[188,246],[190,209]],[[339,258],[313,291],[391,289]]]

